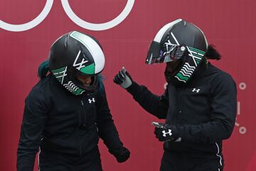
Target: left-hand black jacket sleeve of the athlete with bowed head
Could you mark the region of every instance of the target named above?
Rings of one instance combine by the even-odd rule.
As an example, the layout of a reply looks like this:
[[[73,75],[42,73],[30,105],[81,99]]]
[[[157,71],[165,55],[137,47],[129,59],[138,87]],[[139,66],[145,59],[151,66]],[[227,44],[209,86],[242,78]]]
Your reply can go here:
[[[33,171],[41,133],[46,121],[47,107],[43,95],[32,89],[25,100],[21,135],[17,150],[17,171]]]

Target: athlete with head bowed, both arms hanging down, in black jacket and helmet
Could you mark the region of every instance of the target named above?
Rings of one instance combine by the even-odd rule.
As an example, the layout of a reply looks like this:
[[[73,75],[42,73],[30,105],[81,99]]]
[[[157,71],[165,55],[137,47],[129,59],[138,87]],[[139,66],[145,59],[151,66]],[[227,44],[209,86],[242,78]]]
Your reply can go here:
[[[41,80],[26,98],[18,171],[33,170],[39,147],[41,171],[101,171],[99,137],[118,162],[129,158],[100,78],[104,65],[102,48],[90,35],[73,31],[53,43],[39,68]]]

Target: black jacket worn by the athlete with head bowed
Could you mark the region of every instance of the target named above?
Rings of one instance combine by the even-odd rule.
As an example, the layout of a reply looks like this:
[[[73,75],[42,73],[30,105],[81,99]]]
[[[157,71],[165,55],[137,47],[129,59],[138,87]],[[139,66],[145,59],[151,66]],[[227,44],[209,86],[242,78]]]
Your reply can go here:
[[[122,146],[103,84],[94,93],[75,96],[49,75],[26,97],[17,170],[33,170],[39,146],[42,151],[79,156],[97,148],[99,136],[109,150]]]

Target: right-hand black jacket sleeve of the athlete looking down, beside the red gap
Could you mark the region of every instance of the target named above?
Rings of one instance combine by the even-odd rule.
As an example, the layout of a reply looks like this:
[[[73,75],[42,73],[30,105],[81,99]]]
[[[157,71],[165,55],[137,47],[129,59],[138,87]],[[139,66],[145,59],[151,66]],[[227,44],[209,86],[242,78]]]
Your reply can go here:
[[[102,138],[107,148],[112,151],[122,147],[122,142],[119,139],[117,128],[114,125],[110,108],[107,104],[105,88],[101,84],[101,89],[97,93],[97,128],[100,138]]]

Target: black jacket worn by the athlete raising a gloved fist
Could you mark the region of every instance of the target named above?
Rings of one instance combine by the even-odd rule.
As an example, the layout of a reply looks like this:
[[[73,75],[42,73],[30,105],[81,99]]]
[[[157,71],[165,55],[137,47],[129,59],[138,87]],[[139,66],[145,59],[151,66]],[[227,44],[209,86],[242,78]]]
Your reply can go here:
[[[208,67],[202,65],[188,84],[168,84],[162,96],[136,82],[127,91],[150,114],[177,126],[181,142],[166,142],[165,150],[218,154],[222,140],[233,131],[237,107],[235,82],[210,63]]]

